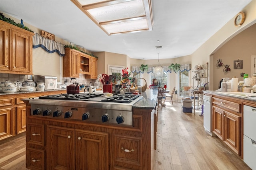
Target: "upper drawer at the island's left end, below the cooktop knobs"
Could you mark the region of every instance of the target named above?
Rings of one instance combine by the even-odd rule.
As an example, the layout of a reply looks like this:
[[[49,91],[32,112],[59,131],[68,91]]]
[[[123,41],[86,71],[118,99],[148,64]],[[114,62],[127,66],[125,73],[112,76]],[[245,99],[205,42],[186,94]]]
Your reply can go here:
[[[44,125],[27,123],[26,141],[44,147]]]

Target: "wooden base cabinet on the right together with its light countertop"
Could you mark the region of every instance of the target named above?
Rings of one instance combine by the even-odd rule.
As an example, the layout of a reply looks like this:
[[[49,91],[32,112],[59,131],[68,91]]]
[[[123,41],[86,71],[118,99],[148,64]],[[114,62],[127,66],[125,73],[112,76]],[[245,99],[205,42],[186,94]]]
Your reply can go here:
[[[244,106],[256,107],[256,97],[215,91],[204,95],[212,97],[212,133],[243,158]]]

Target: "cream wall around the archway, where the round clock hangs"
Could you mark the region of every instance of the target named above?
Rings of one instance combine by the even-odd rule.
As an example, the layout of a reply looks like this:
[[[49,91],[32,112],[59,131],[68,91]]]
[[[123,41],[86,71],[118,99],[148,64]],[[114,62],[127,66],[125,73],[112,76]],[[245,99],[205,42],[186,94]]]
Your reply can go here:
[[[256,23],[256,0],[253,0],[248,4],[242,11],[246,15],[246,19],[241,27],[234,26],[234,18],[232,18],[228,23],[226,23],[217,33],[215,33],[210,39],[206,41],[201,47],[199,47],[192,55],[192,66],[209,62],[209,90],[214,89],[214,66],[216,61],[214,61],[212,55],[220,49],[227,41],[232,39],[235,35],[242,32],[246,28],[250,27]]]

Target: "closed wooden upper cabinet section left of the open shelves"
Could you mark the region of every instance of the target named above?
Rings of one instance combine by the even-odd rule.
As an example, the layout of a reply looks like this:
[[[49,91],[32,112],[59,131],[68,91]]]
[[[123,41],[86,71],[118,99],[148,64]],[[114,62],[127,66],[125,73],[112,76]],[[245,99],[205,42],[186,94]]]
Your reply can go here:
[[[63,76],[79,78],[79,72],[79,52],[70,48],[65,48],[65,56],[63,57]]]

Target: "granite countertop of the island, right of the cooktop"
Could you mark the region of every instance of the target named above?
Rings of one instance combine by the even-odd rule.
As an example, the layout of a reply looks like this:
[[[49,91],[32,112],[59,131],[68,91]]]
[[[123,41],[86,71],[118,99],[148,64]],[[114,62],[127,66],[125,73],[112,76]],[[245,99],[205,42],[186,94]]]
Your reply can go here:
[[[154,109],[157,102],[157,93],[158,90],[147,89],[145,92],[142,92],[142,98],[136,102],[132,108],[136,109]]]

